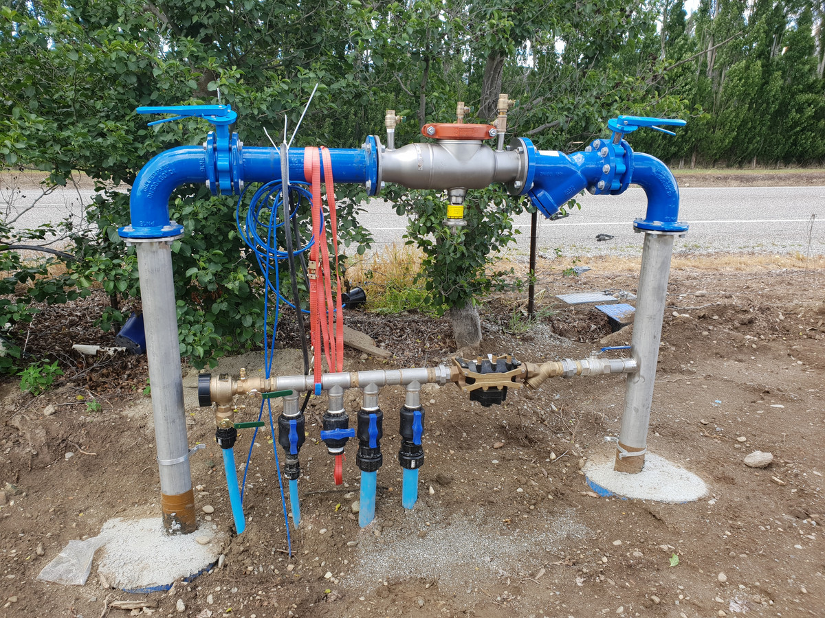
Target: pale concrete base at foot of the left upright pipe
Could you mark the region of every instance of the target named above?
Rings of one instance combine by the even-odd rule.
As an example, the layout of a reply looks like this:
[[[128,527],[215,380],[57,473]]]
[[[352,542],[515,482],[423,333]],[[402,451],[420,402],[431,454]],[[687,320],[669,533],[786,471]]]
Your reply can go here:
[[[106,545],[98,573],[112,588],[135,593],[168,590],[177,579],[196,578],[218,561],[226,539],[212,522],[201,522],[192,534],[169,536],[161,517],[116,517],[100,534]]]

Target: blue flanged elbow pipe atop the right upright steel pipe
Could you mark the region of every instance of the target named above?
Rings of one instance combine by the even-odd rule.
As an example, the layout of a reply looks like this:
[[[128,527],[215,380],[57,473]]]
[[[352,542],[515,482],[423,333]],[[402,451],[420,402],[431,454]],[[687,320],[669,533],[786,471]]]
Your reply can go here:
[[[645,218],[636,219],[634,227],[656,232],[687,232],[687,223],[679,222],[679,185],[667,166],[656,157],[634,152],[633,176],[648,196]]]

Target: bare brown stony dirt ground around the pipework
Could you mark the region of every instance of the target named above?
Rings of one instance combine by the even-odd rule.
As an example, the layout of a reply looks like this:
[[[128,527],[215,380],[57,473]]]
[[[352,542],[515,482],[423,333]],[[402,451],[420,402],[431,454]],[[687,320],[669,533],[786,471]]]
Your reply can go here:
[[[542,270],[534,322],[505,298],[482,307],[484,351],[525,361],[585,358],[603,338],[629,340],[625,331],[610,335],[592,306],[569,307],[554,295],[635,291],[638,261],[586,263],[592,270],[578,277]],[[102,589],[97,560],[82,587],[35,578],[69,540],[96,536],[111,517],[159,516],[144,361],[82,366],[36,398],[6,382],[0,616],[97,618],[107,601],[130,598],[154,605],[145,614],[200,618],[823,616],[823,284],[821,259],[807,268],[771,256],[674,263],[648,445],[705,480],[709,495],[698,502],[587,493],[579,469],[610,455],[604,438],[617,434],[623,410],[624,378],[608,376],[511,389],[504,405],[491,408],[453,385],[427,386],[426,461],[418,502],[405,511],[396,435],[403,390],[387,387],[376,518],[362,530],[351,511],[357,445],[348,445],[346,485],[338,489],[332,457],[318,442],[322,396],[308,409],[304,518],[291,533],[293,556],[285,551],[270,436],[260,433],[247,480],[247,531],[230,534],[223,568],[172,592],[137,597]],[[89,325],[99,302],[46,311],[42,336],[106,342],[111,335]],[[351,312],[347,321],[397,357],[381,361],[348,349],[347,370],[450,363],[446,320]],[[70,345],[57,345],[61,363],[81,362]],[[184,371],[189,440],[207,445],[192,457],[193,485],[203,485],[197,508],[214,507],[212,521],[231,533],[214,418],[194,401],[196,372]],[[240,419],[252,419],[257,402],[241,403]],[[50,405],[56,411],[45,415]],[[348,392],[351,419],[358,405],[358,394]],[[239,452],[250,437],[242,433]],[[771,466],[744,466],[755,450],[771,452]],[[243,472],[241,455],[238,466]],[[111,609],[108,616],[129,613]]]

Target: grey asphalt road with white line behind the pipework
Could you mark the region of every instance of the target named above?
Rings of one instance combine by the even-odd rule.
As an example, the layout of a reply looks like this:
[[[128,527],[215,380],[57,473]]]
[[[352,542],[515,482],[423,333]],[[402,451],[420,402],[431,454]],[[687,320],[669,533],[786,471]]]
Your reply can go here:
[[[24,191],[26,199],[38,192]],[[91,190],[63,189],[47,195],[17,222],[31,227],[38,222],[58,221],[69,213],[79,216],[82,204],[91,200]],[[631,188],[617,196],[585,194],[581,210],[568,218],[549,221],[540,216],[539,250],[552,254],[559,247],[564,255],[639,255],[642,236],[633,231],[634,218],[643,217],[647,204],[644,192]],[[20,204],[25,199],[18,199]],[[812,217],[815,218],[812,221]],[[690,224],[685,238],[676,240],[677,252],[757,251],[803,255],[825,254],[825,187],[684,188],[680,219]],[[375,236],[376,246],[403,241],[406,219],[381,200],[372,200],[361,224]],[[511,251],[526,254],[530,246],[530,215],[516,218],[521,231]],[[609,234],[609,241],[596,241]]]

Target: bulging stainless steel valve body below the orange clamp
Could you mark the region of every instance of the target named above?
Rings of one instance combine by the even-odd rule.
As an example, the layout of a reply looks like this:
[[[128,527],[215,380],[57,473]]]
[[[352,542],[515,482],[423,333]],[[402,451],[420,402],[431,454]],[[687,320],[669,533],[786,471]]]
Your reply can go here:
[[[497,152],[479,140],[441,139],[384,150],[378,180],[408,189],[483,189],[526,176],[526,166],[523,152]]]

